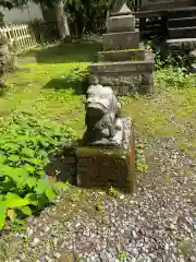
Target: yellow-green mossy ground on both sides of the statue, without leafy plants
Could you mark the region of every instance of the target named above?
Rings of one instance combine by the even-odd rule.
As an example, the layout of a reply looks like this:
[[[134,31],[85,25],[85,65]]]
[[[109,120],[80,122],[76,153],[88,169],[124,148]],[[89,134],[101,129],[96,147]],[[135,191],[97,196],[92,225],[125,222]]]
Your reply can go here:
[[[84,127],[84,97],[79,75],[73,69],[86,69],[100,45],[75,44],[37,48],[19,58],[24,70],[8,75],[9,88],[0,97],[3,122],[13,110],[27,110],[49,119],[68,121],[79,133]],[[171,69],[155,73],[156,95],[122,98],[139,133],[176,135],[179,148],[196,157],[196,88],[193,75]]]

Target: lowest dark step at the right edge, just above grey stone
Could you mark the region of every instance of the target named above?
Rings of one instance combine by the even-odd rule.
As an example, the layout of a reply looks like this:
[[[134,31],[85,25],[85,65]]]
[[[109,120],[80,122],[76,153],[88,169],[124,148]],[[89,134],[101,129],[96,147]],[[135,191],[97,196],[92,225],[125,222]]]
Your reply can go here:
[[[192,38],[196,37],[196,26],[192,27],[179,27],[168,29],[169,38]]]

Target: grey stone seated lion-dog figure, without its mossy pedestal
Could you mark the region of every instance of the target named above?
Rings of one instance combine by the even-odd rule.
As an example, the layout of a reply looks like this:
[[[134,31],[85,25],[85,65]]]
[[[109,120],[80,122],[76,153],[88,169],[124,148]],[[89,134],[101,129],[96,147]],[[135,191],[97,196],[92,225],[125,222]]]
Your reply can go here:
[[[115,142],[118,130],[122,129],[121,105],[109,86],[90,85],[87,91],[85,139],[87,143]]]

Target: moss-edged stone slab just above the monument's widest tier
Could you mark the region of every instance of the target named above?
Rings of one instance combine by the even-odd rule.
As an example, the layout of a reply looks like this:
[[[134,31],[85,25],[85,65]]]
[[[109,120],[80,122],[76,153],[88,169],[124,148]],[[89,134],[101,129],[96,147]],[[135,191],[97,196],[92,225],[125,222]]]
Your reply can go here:
[[[145,60],[144,45],[139,45],[139,49],[125,49],[114,51],[99,51],[97,53],[98,61],[143,61]]]

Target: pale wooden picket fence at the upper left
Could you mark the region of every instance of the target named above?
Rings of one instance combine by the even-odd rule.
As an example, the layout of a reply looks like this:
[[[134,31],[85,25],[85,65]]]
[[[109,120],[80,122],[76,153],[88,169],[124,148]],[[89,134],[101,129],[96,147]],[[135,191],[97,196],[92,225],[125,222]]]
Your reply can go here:
[[[1,26],[0,35],[5,36],[17,52],[28,50],[37,45],[35,34],[28,24]]]

